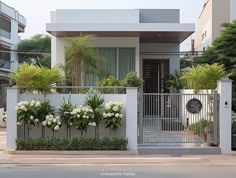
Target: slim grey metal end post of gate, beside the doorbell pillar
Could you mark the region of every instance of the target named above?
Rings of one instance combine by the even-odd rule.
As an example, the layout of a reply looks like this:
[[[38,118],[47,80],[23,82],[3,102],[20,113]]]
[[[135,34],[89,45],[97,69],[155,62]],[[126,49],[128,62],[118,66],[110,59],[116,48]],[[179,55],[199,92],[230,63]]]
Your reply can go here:
[[[213,126],[214,126],[214,129],[213,129],[213,144],[214,145],[217,145],[218,144],[218,139],[217,139],[217,127],[218,127],[218,107],[217,107],[217,104],[218,104],[218,98],[217,98],[217,91],[214,90],[214,99],[213,99]]]

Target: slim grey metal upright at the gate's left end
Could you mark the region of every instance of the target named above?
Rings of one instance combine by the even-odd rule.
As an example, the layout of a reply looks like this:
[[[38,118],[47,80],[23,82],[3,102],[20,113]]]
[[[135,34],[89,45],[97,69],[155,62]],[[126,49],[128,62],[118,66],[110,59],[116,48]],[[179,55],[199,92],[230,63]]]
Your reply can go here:
[[[143,90],[140,89],[140,93],[139,93],[139,144],[143,144],[143,119],[144,119],[144,114],[143,114],[143,110],[145,107],[145,103],[143,102]],[[145,99],[144,99],[145,101]]]

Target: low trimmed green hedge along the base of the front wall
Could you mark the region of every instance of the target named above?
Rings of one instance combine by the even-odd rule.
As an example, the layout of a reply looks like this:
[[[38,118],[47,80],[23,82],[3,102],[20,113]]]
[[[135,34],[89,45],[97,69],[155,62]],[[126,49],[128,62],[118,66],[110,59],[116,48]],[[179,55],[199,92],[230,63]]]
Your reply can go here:
[[[126,150],[128,140],[122,138],[36,138],[17,139],[17,150]]]

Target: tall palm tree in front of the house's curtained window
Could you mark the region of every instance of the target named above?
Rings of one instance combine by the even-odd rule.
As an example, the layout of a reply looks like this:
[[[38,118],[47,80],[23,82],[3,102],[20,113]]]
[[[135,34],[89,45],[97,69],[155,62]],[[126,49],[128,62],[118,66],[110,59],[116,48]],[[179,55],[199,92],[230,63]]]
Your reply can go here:
[[[82,72],[100,73],[100,60],[97,57],[96,50],[89,47],[92,40],[94,40],[93,35],[83,34],[79,37],[67,38],[66,63],[71,68],[72,86],[81,85]]]

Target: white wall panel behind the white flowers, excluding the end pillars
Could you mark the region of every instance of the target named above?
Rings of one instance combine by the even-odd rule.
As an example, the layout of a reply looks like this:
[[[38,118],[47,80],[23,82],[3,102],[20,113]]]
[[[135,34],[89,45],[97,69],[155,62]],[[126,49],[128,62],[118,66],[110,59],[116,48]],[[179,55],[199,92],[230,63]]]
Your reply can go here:
[[[33,95],[33,94],[20,94],[19,96],[19,101],[32,101],[32,100],[40,100],[42,101],[44,98],[44,95]],[[126,95],[115,95],[115,94],[106,94],[106,95],[102,95],[105,102],[110,102],[110,101],[115,101],[115,102],[122,102],[124,103],[124,108],[126,107]],[[87,95],[85,94],[48,94],[46,96],[46,98],[49,100],[50,104],[55,107],[55,109],[58,109],[60,104],[62,103],[63,99],[68,100],[69,98],[71,98],[71,102],[73,104],[76,104],[76,106],[80,106],[84,104],[84,101],[86,99]],[[126,110],[124,110],[124,116]],[[32,128],[32,130],[30,132],[30,135],[32,138],[39,138],[41,137],[42,134],[42,130],[41,127],[37,128],[34,127]],[[101,123],[100,128],[99,128],[99,136],[101,138],[103,137],[108,137],[110,136],[112,137],[126,137],[126,119],[124,118],[122,120],[122,127],[120,129],[117,130],[117,132],[112,132],[109,131],[109,129],[106,129],[104,124]],[[65,137],[66,136],[66,127],[62,127],[56,134],[56,137]],[[115,135],[116,134],[116,135]],[[80,131],[76,130],[76,129],[72,129],[72,136],[79,136],[80,135]],[[94,127],[88,127],[88,131],[86,133],[86,136],[90,136],[90,137],[94,137],[95,132],[94,132]],[[52,136],[52,131],[50,129],[46,129],[46,137],[47,136]],[[18,131],[17,131],[17,137],[18,138],[22,138],[23,137],[23,128],[22,127],[18,127]]]

